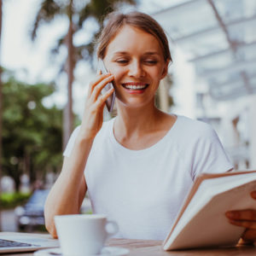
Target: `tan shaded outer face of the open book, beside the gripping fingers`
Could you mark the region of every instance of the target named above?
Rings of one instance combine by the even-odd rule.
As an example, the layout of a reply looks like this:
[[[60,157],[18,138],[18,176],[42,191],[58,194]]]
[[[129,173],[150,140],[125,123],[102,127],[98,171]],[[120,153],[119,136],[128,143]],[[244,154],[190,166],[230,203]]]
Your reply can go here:
[[[255,208],[255,200],[249,195],[255,187],[256,181],[253,181],[213,196],[183,230],[176,236],[171,236],[169,248],[236,245],[245,228],[230,224],[224,213],[235,209]]]

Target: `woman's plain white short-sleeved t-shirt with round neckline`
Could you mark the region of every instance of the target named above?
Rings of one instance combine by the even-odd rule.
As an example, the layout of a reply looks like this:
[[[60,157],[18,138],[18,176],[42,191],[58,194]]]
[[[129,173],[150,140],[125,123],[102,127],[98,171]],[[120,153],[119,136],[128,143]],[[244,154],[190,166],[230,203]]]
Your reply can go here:
[[[96,135],[84,169],[94,213],[119,224],[115,237],[163,240],[201,172],[226,172],[230,164],[215,131],[177,116],[172,129],[150,148],[130,150],[113,135],[113,121]],[[71,154],[79,127],[65,156]]]

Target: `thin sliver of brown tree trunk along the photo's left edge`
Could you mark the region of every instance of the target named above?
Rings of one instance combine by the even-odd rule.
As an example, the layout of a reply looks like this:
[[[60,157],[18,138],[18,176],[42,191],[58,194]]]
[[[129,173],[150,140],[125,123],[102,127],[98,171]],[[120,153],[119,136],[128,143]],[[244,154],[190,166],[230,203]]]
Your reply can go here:
[[[2,17],[3,17],[2,0],[0,0],[0,49],[1,49]],[[2,84],[1,74],[2,74],[2,66],[0,62],[0,195],[2,193],[1,180],[2,180],[2,116],[3,116],[3,84]],[[1,230],[2,230],[2,218],[1,218],[1,209],[0,209],[0,231]]]

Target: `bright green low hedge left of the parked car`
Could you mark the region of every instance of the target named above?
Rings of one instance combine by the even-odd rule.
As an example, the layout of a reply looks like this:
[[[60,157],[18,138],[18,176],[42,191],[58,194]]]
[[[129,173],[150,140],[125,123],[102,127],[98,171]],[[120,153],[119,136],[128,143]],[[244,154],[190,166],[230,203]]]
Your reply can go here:
[[[0,208],[8,209],[24,205],[31,193],[3,193],[0,195]]]

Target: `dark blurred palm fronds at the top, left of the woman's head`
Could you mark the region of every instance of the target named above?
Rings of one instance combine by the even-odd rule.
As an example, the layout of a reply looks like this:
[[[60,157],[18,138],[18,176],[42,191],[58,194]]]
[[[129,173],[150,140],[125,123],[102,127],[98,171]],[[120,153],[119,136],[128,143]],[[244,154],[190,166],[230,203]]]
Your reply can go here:
[[[74,62],[85,60],[92,61],[92,56],[95,51],[95,41],[102,30],[102,22],[106,15],[114,10],[118,10],[122,5],[136,5],[138,0],[90,0],[90,1],[60,1],[60,0],[43,0],[38,9],[38,14],[32,27],[31,38],[34,40],[38,28],[44,22],[49,23],[55,19],[56,16],[73,17],[73,32],[79,32],[85,23],[90,18],[95,20],[95,31],[90,32],[90,42],[74,46]],[[70,4],[72,4],[72,9]],[[72,13],[71,13],[72,10]],[[51,50],[52,53],[58,54],[62,45],[65,46],[67,34],[63,35],[57,40],[55,48]],[[63,70],[63,67],[61,67]]]

